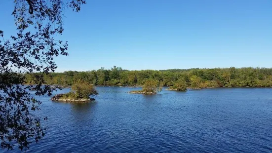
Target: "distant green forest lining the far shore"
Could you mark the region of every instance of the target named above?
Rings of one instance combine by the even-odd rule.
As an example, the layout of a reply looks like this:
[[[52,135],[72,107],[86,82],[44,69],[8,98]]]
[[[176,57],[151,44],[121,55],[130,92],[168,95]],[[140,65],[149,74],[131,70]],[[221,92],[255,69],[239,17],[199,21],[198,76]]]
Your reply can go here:
[[[42,75],[42,74],[40,74]],[[25,74],[31,84],[34,75]],[[141,86],[147,79],[155,79],[163,86],[172,86],[179,78],[188,87],[272,87],[272,68],[215,68],[128,71],[114,66],[87,72],[66,71],[44,75],[46,84],[72,85],[78,79],[93,85]]]

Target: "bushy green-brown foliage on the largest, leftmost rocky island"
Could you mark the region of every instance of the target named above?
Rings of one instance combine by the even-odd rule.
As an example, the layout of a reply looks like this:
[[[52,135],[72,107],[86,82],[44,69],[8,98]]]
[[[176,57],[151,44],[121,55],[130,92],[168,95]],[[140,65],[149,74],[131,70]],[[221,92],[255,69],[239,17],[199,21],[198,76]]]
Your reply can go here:
[[[93,85],[89,84],[86,81],[78,80],[72,85],[72,90],[74,91],[74,95],[70,92],[69,95],[74,97],[75,99],[86,98],[89,96],[96,96],[98,92],[94,88]]]

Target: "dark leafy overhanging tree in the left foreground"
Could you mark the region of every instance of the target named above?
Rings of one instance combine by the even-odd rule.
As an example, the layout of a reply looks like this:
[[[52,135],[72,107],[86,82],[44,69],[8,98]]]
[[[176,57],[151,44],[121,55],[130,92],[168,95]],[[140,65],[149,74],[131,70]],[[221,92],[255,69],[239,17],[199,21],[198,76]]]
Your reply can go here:
[[[12,15],[17,34],[4,38],[0,29],[0,139],[1,148],[27,150],[34,137],[36,142],[44,136],[41,117],[33,114],[39,110],[36,95],[51,95],[52,88],[43,86],[44,74],[57,68],[54,57],[68,55],[68,43],[54,38],[63,33],[64,7],[76,12],[85,0],[14,0]],[[25,75],[33,72],[33,83],[27,85]],[[46,117],[44,118],[46,119]]]

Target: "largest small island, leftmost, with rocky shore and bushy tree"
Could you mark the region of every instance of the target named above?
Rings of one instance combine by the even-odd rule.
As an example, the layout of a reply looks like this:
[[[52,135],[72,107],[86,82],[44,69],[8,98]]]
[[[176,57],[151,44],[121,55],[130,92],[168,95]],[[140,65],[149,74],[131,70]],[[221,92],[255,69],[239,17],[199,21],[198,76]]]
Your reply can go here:
[[[61,102],[89,102],[95,100],[94,98],[90,98],[90,96],[98,95],[93,85],[82,80],[78,80],[73,84],[71,89],[72,91],[65,94],[57,94],[50,100]]]

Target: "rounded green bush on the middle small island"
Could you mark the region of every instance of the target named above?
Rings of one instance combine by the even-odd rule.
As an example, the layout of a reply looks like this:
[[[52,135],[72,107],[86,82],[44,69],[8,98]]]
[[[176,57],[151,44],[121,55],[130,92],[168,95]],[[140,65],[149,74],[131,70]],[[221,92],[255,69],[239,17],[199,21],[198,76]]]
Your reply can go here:
[[[159,83],[158,80],[155,79],[147,79],[145,81],[143,92],[151,92],[157,93],[162,90],[162,85]]]

